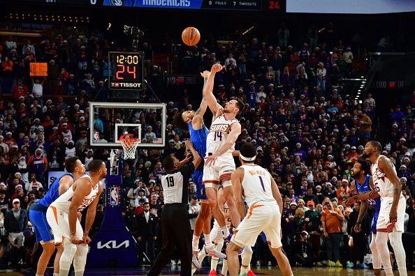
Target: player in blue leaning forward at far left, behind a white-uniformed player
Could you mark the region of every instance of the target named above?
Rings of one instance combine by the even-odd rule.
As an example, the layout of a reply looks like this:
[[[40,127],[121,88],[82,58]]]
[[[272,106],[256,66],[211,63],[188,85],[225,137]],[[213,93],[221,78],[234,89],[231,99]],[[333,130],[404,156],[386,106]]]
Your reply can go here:
[[[43,275],[48,266],[50,256],[54,252],[54,238],[52,229],[46,221],[46,210],[53,201],[55,201],[61,194],[66,192],[75,180],[85,174],[85,166],[80,162],[77,156],[68,158],[65,161],[65,169],[68,173],[54,181],[50,186],[49,191],[45,194],[43,199],[36,201],[31,206],[29,211],[29,219],[33,224],[36,241],[41,243],[43,252],[38,261],[38,268],[36,269],[36,276]],[[59,274],[59,259],[63,252],[63,247],[57,247],[57,254],[54,258],[54,275]]]

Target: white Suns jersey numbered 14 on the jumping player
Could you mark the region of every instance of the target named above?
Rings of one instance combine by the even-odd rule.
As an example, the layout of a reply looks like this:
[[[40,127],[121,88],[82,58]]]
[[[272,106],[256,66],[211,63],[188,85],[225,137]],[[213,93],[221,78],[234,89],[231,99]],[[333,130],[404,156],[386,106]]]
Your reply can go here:
[[[209,133],[207,134],[206,153],[216,153],[219,148],[225,144],[228,139],[229,132],[233,123],[238,123],[238,120],[226,120],[224,114],[218,116],[210,125]],[[226,153],[235,151],[235,145],[228,149]]]

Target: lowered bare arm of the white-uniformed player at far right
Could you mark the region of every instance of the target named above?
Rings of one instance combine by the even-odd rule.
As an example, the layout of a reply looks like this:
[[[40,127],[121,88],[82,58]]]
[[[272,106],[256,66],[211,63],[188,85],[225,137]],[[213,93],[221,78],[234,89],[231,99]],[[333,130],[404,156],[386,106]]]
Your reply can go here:
[[[402,185],[399,178],[396,175],[396,171],[393,167],[391,160],[386,158],[379,158],[379,169],[384,171],[386,177],[389,178],[393,184],[393,201],[391,206],[391,213],[389,213],[389,222],[396,222],[398,220],[398,201],[400,194],[402,194]]]

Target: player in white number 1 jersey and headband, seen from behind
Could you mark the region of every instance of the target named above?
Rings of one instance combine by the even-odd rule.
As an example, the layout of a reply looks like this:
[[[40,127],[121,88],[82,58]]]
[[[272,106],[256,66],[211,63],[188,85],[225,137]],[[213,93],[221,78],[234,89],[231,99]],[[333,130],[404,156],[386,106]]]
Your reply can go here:
[[[282,275],[291,276],[291,266],[282,251],[281,243],[282,197],[270,173],[254,164],[255,158],[254,145],[243,144],[239,156],[242,166],[232,174],[236,206],[240,216],[245,218],[226,248],[229,274],[238,276],[238,251],[245,245],[254,246],[256,238],[263,231]],[[248,213],[243,201],[244,195],[249,206]],[[241,275],[247,275],[247,271],[241,271]]]

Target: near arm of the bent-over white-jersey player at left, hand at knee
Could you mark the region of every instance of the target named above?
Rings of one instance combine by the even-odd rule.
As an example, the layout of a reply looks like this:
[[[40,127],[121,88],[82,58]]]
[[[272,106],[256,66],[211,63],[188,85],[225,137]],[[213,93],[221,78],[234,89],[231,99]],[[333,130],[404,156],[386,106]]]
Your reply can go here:
[[[76,238],[76,220],[78,220],[78,208],[82,203],[82,199],[91,192],[91,181],[89,178],[81,178],[76,183],[73,191],[71,205],[68,211],[69,231],[71,234],[71,243],[78,244],[80,240]]]

